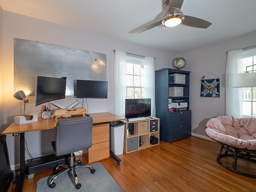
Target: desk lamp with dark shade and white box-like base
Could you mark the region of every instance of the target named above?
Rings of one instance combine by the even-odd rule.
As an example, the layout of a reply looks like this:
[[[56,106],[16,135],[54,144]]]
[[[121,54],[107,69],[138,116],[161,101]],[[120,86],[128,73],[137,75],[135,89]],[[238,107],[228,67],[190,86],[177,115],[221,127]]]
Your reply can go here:
[[[21,125],[38,121],[37,115],[25,115],[26,103],[28,103],[28,99],[26,98],[25,93],[23,91],[18,91],[14,93],[13,96],[14,98],[24,102],[23,116],[14,117],[14,124]]]

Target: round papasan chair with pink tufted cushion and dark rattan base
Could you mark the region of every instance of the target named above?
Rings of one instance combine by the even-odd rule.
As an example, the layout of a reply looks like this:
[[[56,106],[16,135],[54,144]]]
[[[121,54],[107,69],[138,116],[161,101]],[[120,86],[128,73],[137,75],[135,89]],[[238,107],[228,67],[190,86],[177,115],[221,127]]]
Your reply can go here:
[[[206,124],[205,133],[221,144],[217,157],[220,165],[232,172],[256,178],[256,174],[237,169],[238,158],[256,163],[256,118],[235,118],[233,116],[211,118]],[[220,160],[227,156],[233,157],[232,167]]]

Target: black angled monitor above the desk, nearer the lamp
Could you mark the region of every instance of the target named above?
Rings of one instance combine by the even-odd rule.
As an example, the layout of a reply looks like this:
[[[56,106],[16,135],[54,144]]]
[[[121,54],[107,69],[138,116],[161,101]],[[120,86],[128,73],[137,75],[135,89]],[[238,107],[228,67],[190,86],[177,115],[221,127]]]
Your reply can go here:
[[[66,92],[66,78],[36,76],[35,105],[64,99]]]

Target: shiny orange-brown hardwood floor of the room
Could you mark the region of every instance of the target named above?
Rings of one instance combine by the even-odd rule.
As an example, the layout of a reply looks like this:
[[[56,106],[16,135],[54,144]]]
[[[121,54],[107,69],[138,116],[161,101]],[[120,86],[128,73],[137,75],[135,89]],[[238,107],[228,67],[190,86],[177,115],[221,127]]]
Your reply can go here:
[[[120,166],[112,158],[100,162],[124,192],[256,192],[256,179],[218,164],[219,150],[220,144],[192,136],[122,154]],[[256,172],[255,164],[241,163]],[[36,192],[38,180],[50,174],[52,169],[26,178],[23,192]]]

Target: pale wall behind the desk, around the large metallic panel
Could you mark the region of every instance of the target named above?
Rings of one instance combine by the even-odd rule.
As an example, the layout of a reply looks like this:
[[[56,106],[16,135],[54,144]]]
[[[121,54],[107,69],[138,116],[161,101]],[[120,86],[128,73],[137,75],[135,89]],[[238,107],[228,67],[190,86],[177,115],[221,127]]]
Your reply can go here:
[[[88,99],[90,113],[113,112],[113,50],[155,57],[155,68],[166,68],[171,66],[174,54],[155,50],[152,48],[131,44],[128,42],[99,36],[85,31],[76,30],[66,26],[14,14],[3,12],[3,53],[4,53],[4,128],[7,128],[14,120],[14,116],[22,114],[23,102],[13,98],[14,94],[14,52],[13,38],[20,38],[48,44],[67,46],[82,50],[104,53],[107,56],[107,80],[108,99]],[[34,97],[28,97],[26,105],[27,114],[39,114],[40,106],[34,106]],[[74,102],[69,96],[65,100],[58,101],[64,106]],[[50,142],[54,140],[54,130],[27,132],[25,134],[28,149],[33,157],[46,155],[52,152]],[[71,141],[72,142],[72,141]],[[19,163],[19,137],[7,136],[7,144],[10,156],[10,164]],[[26,156],[28,158],[28,156]]]

